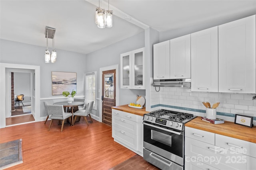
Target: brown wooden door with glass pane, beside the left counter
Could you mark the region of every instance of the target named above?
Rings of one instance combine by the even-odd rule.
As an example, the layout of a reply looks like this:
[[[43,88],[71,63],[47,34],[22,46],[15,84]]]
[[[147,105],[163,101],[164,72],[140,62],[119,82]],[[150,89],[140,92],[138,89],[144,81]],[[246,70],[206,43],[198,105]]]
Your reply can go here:
[[[110,126],[112,106],[116,106],[116,70],[102,72],[102,123]]]

